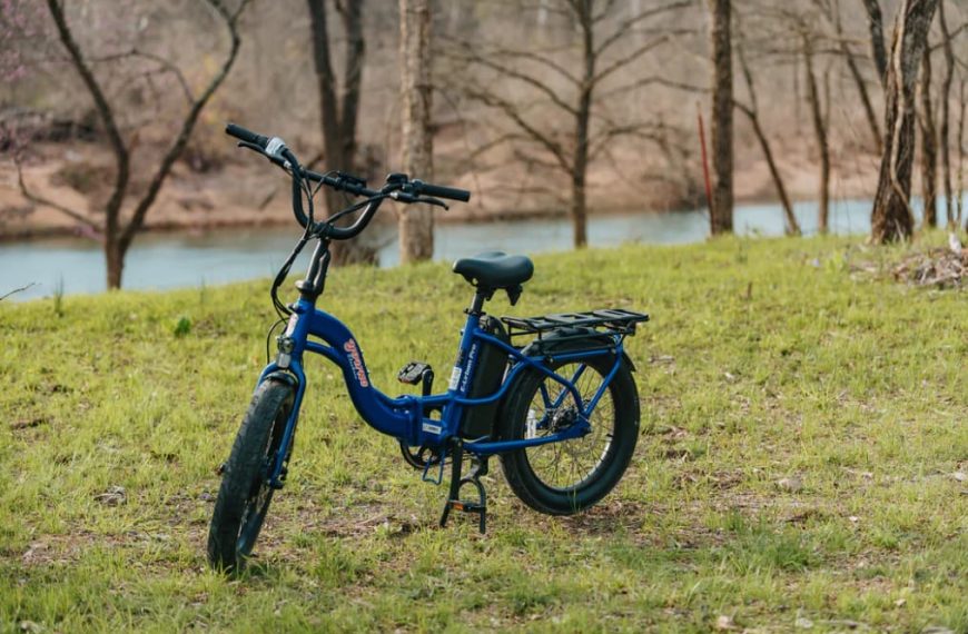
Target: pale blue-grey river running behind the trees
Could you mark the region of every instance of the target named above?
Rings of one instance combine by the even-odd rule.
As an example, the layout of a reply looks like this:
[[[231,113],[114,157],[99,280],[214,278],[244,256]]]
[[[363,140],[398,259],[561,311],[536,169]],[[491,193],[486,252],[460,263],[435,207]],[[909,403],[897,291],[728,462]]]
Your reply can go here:
[[[794,214],[804,235],[817,231],[817,205],[796,205]],[[840,200],[831,205],[830,230],[863,234],[870,229],[870,201]],[[776,204],[741,205],[733,225],[739,235],[779,236],[783,232],[781,208]],[[369,229],[382,245],[379,265],[395,266],[399,252],[393,224]],[[591,247],[623,242],[683,244],[705,239],[705,210],[669,214],[596,215],[589,220]],[[258,227],[142,234],[132,245],[125,266],[125,288],[177,288],[218,285],[269,277],[275,274],[300,235],[292,227]],[[435,232],[435,259],[453,260],[484,250],[536,254],[571,248],[571,222],[566,218],[498,221],[491,224],[439,224]],[[295,270],[305,269],[308,251]],[[56,293],[65,295],[105,290],[105,259],[100,246],[81,238],[29,240],[0,245],[0,295],[33,285],[11,296],[23,300]]]

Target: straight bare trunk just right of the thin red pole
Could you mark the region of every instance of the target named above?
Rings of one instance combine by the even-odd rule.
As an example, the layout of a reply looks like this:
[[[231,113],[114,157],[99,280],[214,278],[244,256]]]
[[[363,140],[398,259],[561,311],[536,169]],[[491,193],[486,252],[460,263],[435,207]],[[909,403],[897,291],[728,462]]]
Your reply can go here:
[[[709,0],[712,12],[712,235],[733,230],[733,73],[730,0]]]

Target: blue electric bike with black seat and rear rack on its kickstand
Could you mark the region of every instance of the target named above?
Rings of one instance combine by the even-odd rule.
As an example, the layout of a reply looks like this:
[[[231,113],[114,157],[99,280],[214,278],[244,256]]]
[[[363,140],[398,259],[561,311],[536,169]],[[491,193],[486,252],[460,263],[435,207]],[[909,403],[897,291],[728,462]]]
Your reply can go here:
[[[208,558],[215,568],[231,572],[245,565],[273,494],[286,482],[305,397],[303,357],[307,353],[322,355],[343,370],[360,417],[376,430],[397,438],[404,459],[423,472],[424,481],[439,485],[450,465],[442,527],[452,511],[460,511],[476,514],[484,533],[487,496],[481,476],[495,455],[512,492],[541,513],[577,513],[611,492],[629,466],[639,435],[634,366],[623,341],[635,333],[636,324],[649,320],[648,315],[601,309],[495,319],[484,311],[485,303],[495,293],[505,291],[514,306],[523,284],[532,277],[533,264],[524,256],[500,251],[462,258],[454,264],[454,273],[475,291],[465,310],[467,318],[447,390],[432,394],[433,368],[412,361],[398,378],[421,385],[419,396],[392,398],[373,386],[353,333],[316,308],[325,289],[329,245],[359,235],[387,199],[446,208],[441,199],[467,201],[471,194],[403,174],[391,174],[383,187],[368,189],[360,178],[302,167],[278,137],[231,123],[226,132],[239,139],[240,147],[288,172],[293,212],[304,234],[270,290],[280,323],[286,320],[285,331],[276,339],[276,357],[261,372],[229,458],[219,468],[223,479],[208,537]],[[310,184],[316,184],[315,189]],[[317,222],[313,199],[324,186],[363,200]],[[360,210],[352,225],[336,224]],[[296,283],[299,298],[284,305],[278,289],[309,240],[316,246],[306,278]],[[465,458],[471,462],[467,474]],[[475,498],[461,497],[465,486],[473,487]]]

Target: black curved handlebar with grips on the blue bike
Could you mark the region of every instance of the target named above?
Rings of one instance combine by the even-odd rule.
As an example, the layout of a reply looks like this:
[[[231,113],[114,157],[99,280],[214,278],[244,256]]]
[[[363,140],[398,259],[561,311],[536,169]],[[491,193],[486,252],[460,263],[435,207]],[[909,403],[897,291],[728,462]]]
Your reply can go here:
[[[303,189],[302,186],[299,186],[300,179],[305,178],[306,180],[332,187],[337,191],[347,191],[354,196],[369,199],[363,214],[360,214],[359,218],[357,218],[357,220],[349,227],[337,227],[328,220],[318,224],[319,235],[330,239],[348,240],[356,237],[369,224],[369,220],[376,214],[381,202],[383,202],[385,198],[393,198],[398,202],[427,202],[442,207],[446,207],[446,205],[436,200],[436,198],[446,198],[450,200],[458,200],[461,202],[466,202],[471,199],[471,192],[466,189],[433,185],[419,179],[408,180],[407,176],[402,174],[392,174],[387,176],[386,185],[384,185],[379,190],[368,189],[366,182],[356,177],[340,174],[338,171],[319,174],[303,168],[296,160],[295,155],[293,155],[293,152],[286,147],[286,143],[278,137],[258,135],[251,130],[243,128],[241,126],[236,126],[235,123],[228,123],[225,127],[225,132],[239,139],[241,141],[241,143],[239,143],[240,146],[259,151],[259,153],[274,164],[292,171],[293,212],[296,216],[296,220],[303,227],[306,227],[309,224],[309,218],[303,211]],[[336,176],[330,176],[333,174]]]

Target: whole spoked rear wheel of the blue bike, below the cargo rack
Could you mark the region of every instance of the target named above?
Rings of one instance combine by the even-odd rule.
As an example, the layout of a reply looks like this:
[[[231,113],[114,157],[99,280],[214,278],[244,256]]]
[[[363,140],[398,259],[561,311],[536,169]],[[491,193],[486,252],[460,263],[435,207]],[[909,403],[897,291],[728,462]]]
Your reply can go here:
[[[615,357],[551,364],[575,384],[584,407],[599,392]],[[507,484],[527,506],[550,515],[572,515],[603,498],[619,483],[639,439],[639,395],[624,360],[587,417],[591,432],[580,438],[537,445],[501,456]],[[574,396],[555,379],[526,372],[512,387],[498,418],[502,440],[547,436],[579,418]]]

